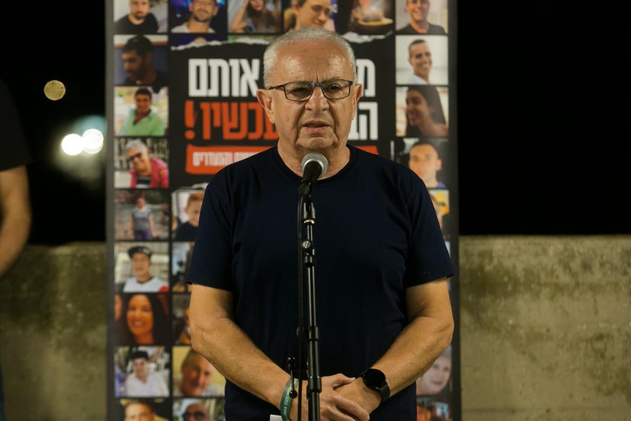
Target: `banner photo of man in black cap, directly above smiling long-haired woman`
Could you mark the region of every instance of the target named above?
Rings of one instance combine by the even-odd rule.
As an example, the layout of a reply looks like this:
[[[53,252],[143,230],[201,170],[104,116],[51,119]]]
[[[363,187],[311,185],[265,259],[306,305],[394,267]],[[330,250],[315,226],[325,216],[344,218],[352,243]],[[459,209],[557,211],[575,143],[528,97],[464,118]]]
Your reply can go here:
[[[117,242],[115,292],[168,292],[168,242]]]

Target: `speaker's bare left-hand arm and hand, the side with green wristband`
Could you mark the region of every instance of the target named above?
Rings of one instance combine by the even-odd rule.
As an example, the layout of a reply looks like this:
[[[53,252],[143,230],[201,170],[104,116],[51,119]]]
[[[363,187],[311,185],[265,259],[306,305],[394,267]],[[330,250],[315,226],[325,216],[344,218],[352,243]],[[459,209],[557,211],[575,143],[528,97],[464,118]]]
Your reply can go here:
[[[245,332],[234,323],[232,292],[193,284],[191,291],[191,346],[203,355],[228,380],[264,401],[280,407],[289,374],[274,364]],[[334,388],[352,379],[337,374],[322,377],[321,420],[364,420],[368,413],[354,401],[339,395]],[[306,388],[303,388],[306,393]],[[297,413],[292,400],[292,419]],[[302,418],[307,419],[307,400]],[[353,415],[351,418],[345,413]]]

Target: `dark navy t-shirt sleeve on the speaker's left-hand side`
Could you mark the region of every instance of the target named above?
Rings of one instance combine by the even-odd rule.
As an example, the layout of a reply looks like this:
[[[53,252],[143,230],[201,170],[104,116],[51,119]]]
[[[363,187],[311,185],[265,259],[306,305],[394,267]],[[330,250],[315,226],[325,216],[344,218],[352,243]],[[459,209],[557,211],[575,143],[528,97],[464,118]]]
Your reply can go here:
[[[232,211],[225,171],[213,177],[201,206],[188,283],[232,291]]]

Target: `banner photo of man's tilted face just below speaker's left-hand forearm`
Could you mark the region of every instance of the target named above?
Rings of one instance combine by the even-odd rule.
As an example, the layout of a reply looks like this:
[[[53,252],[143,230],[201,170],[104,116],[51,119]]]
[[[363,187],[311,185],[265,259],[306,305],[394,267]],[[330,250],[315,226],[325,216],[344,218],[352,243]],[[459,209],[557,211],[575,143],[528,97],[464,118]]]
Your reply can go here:
[[[226,379],[191,347],[173,347],[173,396],[223,396]]]

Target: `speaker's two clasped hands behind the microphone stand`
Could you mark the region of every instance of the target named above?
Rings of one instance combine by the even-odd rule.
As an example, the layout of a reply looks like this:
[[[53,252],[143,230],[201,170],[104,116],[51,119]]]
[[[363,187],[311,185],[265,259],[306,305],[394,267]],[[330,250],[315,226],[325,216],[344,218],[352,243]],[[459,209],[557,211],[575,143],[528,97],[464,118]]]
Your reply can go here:
[[[381,398],[377,391],[363,384],[363,379],[346,377],[344,374],[322,377],[320,393],[321,421],[368,421],[369,414],[379,406]],[[292,399],[290,418],[298,420],[298,398]],[[302,420],[309,419],[307,381],[302,382]]]

